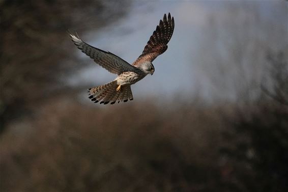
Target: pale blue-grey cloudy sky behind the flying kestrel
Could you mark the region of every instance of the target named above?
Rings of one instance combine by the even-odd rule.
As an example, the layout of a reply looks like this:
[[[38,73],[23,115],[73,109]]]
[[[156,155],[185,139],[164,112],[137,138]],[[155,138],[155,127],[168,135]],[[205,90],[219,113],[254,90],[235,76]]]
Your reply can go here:
[[[201,87],[205,83],[199,84],[207,81],[207,78],[203,78],[204,69],[199,66],[201,57],[206,56],[205,53],[199,54],[199,48],[207,46],[203,42],[209,34],[207,30],[209,30],[211,17],[220,20],[223,17],[223,22],[227,20],[227,14],[225,14],[227,6],[223,6],[227,4],[235,3],[226,1],[133,2],[128,14],[118,22],[101,28],[97,33],[91,32],[83,37],[80,36],[85,42],[117,54],[131,64],[141,54],[164,13],[170,12],[175,18],[175,31],[168,43],[168,49],[154,60],[154,74],[147,75],[132,86],[134,98],[145,97],[143,93],[164,99],[175,97],[175,95],[189,97],[199,90],[209,94],[205,91],[205,87]],[[277,21],[279,19],[272,2],[253,2],[251,5],[247,2],[236,4],[248,8],[249,6],[258,7],[264,20],[275,19]],[[80,51],[77,54],[81,58],[87,57]],[[114,78],[116,78],[115,74],[94,65],[80,70],[78,74],[69,78],[68,83],[78,85],[85,82],[91,86],[99,86]]]

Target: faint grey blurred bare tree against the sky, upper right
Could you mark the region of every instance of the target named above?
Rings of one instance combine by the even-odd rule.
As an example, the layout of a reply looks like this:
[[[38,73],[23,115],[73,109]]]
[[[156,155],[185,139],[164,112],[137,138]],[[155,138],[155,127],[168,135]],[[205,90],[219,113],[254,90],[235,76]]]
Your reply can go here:
[[[269,65],[267,51],[287,50],[285,2],[224,3],[224,11],[211,11],[205,39],[201,39],[198,65],[203,69],[210,96],[215,100],[252,102]],[[273,6],[275,9],[268,9]],[[203,74],[201,74],[203,75]],[[204,78],[205,78],[204,77]],[[201,76],[203,78],[203,76]]]

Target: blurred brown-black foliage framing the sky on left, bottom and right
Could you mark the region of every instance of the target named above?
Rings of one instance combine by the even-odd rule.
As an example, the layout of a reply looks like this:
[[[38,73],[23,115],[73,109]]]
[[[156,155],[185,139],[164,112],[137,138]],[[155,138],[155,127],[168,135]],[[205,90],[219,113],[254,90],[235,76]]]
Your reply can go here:
[[[116,21],[124,3],[0,1],[0,190],[288,191],[285,51],[241,106],[92,106],[61,85],[79,67],[66,30]]]

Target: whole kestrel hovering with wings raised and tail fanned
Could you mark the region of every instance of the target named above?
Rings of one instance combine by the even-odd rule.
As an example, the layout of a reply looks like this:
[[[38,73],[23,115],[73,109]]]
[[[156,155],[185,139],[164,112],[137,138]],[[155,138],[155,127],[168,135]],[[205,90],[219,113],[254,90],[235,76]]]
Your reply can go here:
[[[148,74],[153,75],[155,69],[152,62],[167,50],[167,43],[173,31],[174,17],[171,18],[170,13],[168,17],[164,14],[163,20],[160,20],[142,54],[132,65],[111,52],[93,47],[78,36],[69,34],[71,40],[83,53],[109,72],[118,74],[117,78],[110,83],[89,89],[89,98],[95,103],[100,101],[100,104],[133,100],[131,85]]]

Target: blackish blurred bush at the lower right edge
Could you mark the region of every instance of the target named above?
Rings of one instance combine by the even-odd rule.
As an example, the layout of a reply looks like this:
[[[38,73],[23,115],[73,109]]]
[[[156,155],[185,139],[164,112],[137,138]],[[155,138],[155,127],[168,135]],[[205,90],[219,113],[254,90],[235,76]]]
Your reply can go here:
[[[239,191],[288,190],[287,59],[282,51],[269,53],[272,84],[252,105],[227,118],[232,129],[225,131],[222,152],[233,165],[228,182]]]

